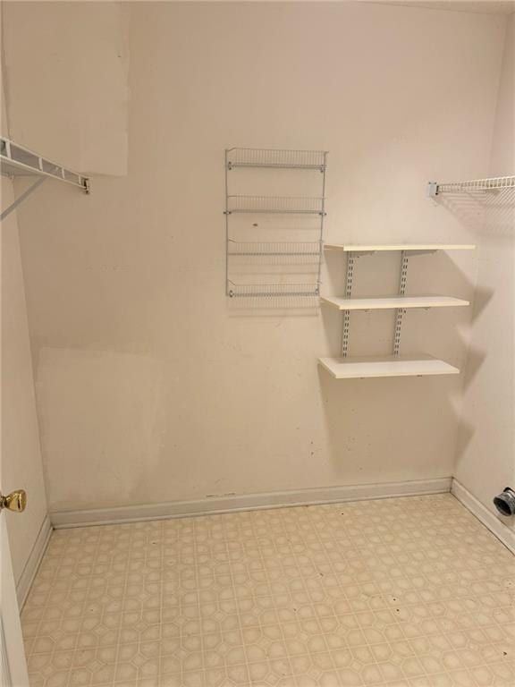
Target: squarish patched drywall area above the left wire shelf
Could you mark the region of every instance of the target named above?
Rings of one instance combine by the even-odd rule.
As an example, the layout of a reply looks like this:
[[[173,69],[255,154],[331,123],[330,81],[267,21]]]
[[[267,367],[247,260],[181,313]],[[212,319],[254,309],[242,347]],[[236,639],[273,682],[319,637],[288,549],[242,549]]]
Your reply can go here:
[[[3,14],[13,140],[84,174],[127,174],[127,4],[6,2]]]

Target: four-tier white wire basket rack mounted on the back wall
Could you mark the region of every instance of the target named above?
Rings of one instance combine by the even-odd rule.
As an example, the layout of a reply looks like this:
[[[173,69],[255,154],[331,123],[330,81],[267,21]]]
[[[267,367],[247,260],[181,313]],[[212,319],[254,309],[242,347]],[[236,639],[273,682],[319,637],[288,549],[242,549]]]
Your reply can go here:
[[[325,150],[229,148],[225,150],[225,294],[230,298],[316,297],[325,218]],[[266,175],[243,170],[266,170]],[[234,178],[241,170],[238,180]],[[283,170],[277,174],[268,174]],[[291,175],[288,174],[291,171]],[[284,172],[285,171],[285,172]],[[240,195],[229,190],[236,181],[256,190],[258,183],[297,188],[302,172],[315,173],[309,188],[317,195]],[[306,182],[304,178],[302,180]],[[303,189],[307,188],[305,184]],[[237,219],[237,216],[240,216]],[[245,216],[249,216],[250,223]],[[271,216],[264,223],[258,216]],[[277,216],[275,221],[272,216]],[[281,219],[283,216],[283,219]],[[262,226],[265,224],[265,228]],[[281,241],[270,241],[270,232]],[[300,236],[306,238],[300,240]],[[245,258],[245,260],[242,260]],[[294,267],[286,271],[281,265]],[[308,270],[306,267],[310,265]],[[302,267],[304,266],[304,267]],[[273,267],[273,269],[271,268]],[[233,276],[236,273],[240,278]],[[300,275],[299,275],[300,273]],[[256,277],[259,279],[256,280]],[[301,278],[300,278],[301,277]],[[258,283],[257,283],[258,282]]]

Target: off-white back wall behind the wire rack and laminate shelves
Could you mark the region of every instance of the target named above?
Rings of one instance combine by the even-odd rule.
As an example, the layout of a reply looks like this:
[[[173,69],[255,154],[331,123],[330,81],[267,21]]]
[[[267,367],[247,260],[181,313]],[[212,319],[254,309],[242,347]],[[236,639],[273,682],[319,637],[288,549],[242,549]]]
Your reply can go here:
[[[223,151],[330,150],[329,240],[468,242],[425,185],[484,174],[502,36],[375,4],[131,5],[127,178],[20,212],[51,510],[452,474],[459,377],[337,382],[316,360],[338,313],[224,297]],[[360,259],[357,293],[391,293],[398,259]],[[472,292],[471,255],[412,265],[410,293]],[[468,318],[409,313],[403,351],[460,364]],[[352,327],[351,353],[390,349],[393,313]]]

